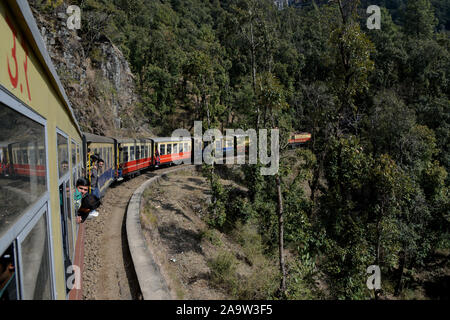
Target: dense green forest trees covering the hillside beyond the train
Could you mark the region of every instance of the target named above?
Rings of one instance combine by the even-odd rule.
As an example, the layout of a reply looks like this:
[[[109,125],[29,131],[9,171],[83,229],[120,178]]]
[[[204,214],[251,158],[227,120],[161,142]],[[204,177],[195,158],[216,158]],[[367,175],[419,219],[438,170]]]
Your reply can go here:
[[[194,120],[277,127],[285,142],[312,134],[294,155],[282,150],[276,176],[244,168],[248,199],[215,189],[214,226],[256,221],[268,251],[282,200],[298,257],[282,271],[283,297],[319,297],[317,278],[327,297],[371,297],[373,264],[398,296],[450,245],[450,2],[294,2],[79,0],[80,34],[121,48],[161,135]],[[366,27],[368,5],[381,7],[379,30]]]

